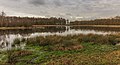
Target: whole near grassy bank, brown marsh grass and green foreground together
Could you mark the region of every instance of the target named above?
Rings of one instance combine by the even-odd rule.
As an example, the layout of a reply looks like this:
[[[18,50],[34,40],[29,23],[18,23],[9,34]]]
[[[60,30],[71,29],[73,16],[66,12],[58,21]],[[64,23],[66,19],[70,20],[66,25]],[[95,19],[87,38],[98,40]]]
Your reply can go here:
[[[118,35],[68,35],[29,38],[25,49],[0,53],[0,64],[10,65],[118,65]],[[19,44],[15,40],[15,44]]]

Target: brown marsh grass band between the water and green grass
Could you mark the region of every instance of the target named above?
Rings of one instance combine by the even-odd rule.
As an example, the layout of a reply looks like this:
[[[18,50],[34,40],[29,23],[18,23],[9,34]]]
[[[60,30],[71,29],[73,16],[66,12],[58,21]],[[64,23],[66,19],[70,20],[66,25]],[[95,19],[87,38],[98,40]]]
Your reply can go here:
[[[87,35],[68,35],[68,36],[46,36],[46,37],[35,37],[27,40],[28,45],[39,45],[39,46],[54,46],[61,44],[64,46],[71,46],[80,43],[94,43],[94,44],[108,44],[116,45],[120,42],[119,34],[116,35],[97,35],[97,34],[87,34]]]

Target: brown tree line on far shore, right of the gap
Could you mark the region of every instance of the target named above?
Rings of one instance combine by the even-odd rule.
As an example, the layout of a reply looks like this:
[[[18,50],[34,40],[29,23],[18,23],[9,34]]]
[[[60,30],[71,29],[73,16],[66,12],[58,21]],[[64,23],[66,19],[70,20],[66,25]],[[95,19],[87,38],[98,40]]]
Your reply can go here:
[[[120,17],[116,16],[114,18],[108,18],[108,19],[74,21],[74,22],[71,22],[70,24],[71,25],[120,25]]]

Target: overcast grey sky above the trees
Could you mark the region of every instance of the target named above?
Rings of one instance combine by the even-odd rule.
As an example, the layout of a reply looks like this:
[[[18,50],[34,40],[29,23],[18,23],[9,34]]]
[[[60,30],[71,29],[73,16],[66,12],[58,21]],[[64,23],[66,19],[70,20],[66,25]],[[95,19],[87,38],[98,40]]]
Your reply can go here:
[[[111,17],[120,14],[120,0],[0,0],[0,10],[16,16]]]

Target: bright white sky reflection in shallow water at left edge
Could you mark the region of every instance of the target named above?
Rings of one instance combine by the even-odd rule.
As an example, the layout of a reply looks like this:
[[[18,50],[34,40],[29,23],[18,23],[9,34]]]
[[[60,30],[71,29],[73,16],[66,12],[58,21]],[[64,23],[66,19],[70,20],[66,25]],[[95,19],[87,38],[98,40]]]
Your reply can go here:
[[[0,50],[10,50],[11,48],[18,48],[21,47],[20,45],[14,45],[13,42],[16,38],[22,39],[22,36],[20,34],[14,35],[14,34],[8,34],[8,35],[1,35],[0,36]],[[13,46],[14,45],[14,46]]]

